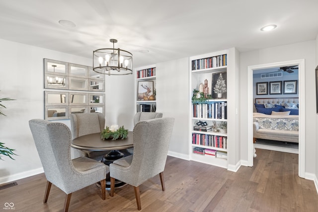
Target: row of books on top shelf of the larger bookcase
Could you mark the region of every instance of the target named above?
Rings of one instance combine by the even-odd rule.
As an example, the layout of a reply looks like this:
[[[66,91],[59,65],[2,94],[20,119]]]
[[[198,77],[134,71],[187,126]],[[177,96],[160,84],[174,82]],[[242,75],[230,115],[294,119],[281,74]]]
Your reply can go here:
[[[192,71],[227,66],[227,55],[219,55],[192,61]]]

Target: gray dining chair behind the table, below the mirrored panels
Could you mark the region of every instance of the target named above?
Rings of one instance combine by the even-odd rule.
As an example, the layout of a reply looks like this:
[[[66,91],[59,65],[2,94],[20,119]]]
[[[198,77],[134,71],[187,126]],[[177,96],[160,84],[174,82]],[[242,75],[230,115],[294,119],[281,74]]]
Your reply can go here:
[[[100,133],[105,128],[105,116],[102,113],[75,113],[71,114],[72,140],[79,136]],[[74,149],[75,157],[89,157],[101,160],[109,151],[89,151]]]

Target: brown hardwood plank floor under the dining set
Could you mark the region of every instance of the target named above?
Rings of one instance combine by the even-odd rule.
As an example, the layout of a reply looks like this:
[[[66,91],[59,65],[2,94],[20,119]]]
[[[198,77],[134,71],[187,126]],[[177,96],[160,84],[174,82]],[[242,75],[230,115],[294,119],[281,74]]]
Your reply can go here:
[[[256,149],[253,167],[238,172],[168,156],[165,191],[159,175],[140,186],[145,212],[317,212],[318,194],[311,180],[298,177],[298,155]],[[52,185],[43,204],[46,179],[39,174],[0,190],[0,209],[14,203],[15,212],[62,211],[65,194]],[[11,210],[3,210],[11,211]],[[134,189],[116,189],[114,197],[88,186],[72,194],[69,211],[117,212],[137,210]]]

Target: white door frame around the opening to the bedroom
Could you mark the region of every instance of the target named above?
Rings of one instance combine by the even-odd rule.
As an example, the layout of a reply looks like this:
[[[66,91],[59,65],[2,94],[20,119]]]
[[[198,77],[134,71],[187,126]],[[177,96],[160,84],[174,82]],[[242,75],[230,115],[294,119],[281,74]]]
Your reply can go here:
[[[247,163],[253,166],[253,71],[283,66],[297,66],[299,104],[299,154],[298,175],[305,178],[305,60],[293,60],[279,63],[263,64],[247,67]],[[257,152],[256,152],[257,153]]]

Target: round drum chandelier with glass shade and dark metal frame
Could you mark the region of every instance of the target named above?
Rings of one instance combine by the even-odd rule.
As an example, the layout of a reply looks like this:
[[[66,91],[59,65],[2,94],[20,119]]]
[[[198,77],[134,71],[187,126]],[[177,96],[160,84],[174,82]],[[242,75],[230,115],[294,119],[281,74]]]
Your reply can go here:
[[[133,73],[133,55],[122,49],[115,49],[116,39],[110,39],[113,48],[93,51],[93,71],[107,75],[127,75]]]

